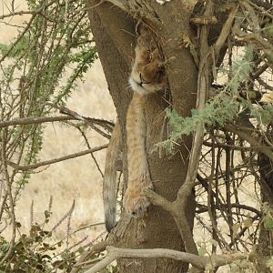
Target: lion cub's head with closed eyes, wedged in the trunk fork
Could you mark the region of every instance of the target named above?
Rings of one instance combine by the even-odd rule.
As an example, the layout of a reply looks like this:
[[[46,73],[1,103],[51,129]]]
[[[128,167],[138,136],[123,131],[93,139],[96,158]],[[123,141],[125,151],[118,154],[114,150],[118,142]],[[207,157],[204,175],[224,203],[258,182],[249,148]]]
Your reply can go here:
[[[148,95],[166,86],[164,60],[147,26],[139,25],[137,34],[136,58],[129,84],[139,94]]]

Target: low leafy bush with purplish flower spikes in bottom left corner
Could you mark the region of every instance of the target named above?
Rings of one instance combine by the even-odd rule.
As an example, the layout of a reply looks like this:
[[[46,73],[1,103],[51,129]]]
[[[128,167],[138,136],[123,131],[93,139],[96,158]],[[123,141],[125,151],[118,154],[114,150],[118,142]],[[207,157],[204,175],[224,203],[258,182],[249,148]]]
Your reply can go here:
[[[52,200],[51,200],[52,201]],[[76,263],[76,258],[84,251],[85,248],[74,246],[67,248],[66,238],[53,242],[53,234],[59,225],[67,220],[70,221],[71,209],[65,217],[59,220],[55,227],[48,229],[48,223],[52,211],[45,210],[45,219],[41,224],[32,224],[29,233],[21,233],[21,224],[16,223],[18,238],[16,238],[13,254],[9,256],[0,266],[0,272],[54,272],[57,269],[63,272],[70,272]],[[80,242],[79,242],[80,243]],[[0,258],[4,258],[10,247],[10,242],[0,237]],[[96,258],[94,256],[93,258]]]

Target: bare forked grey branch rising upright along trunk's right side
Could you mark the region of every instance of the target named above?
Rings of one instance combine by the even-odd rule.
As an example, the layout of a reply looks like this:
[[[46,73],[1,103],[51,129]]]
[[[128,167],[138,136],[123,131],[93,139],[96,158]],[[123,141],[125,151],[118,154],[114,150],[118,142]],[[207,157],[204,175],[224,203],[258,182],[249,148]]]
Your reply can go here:
[[[206,17],[213,15],[213,3],[209,1],[206,11],[204,13]],[[207,94],[209,90],[209,69],[211,62],[209,62],[210,51],[207,45],[207,25],[202,25],[200,35],[200,64],[198,72],[198,85],[197,85],[197,109],[202,109],[205,106]],[[183,185],[180,187],[177,193],[177,200],[175,202],[169,202],[164,197],[159,197],[156,193],[145,191],[145,194],[150,201],[160,207],[163,207],[171,213],[174,217],[177,227],[180,231],[181,237],[185,244],[185,248],[188,253],[197,254],[197,246],[192,237],[191,229],[187,223],[187,199],[191,194],[192,188],[195,186],[197,177],[197,168],[199,157],[201,154],[201,148],[203,144],[204,125],[199,122],[197,130],[193,140],[193,146],[189,158],[189,164],[187,168],[187,177]]]

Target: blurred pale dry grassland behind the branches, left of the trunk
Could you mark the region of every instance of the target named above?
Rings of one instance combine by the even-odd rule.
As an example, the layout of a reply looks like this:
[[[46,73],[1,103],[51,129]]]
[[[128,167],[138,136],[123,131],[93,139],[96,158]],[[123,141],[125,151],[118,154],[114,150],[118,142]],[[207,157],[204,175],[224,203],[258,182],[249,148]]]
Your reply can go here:
[[[9,0],[1,0],[1,14],[8,11]],[[27,10],[24,0],[15,1],[17,10]],[[8,22],[1,20],[0,43],[7,44],[17,36],[17,28],[10,25],[24,25],[28,15],[8,18]],[[9,25],[6,25],[7,22]],[[116,120],[116,111],[108,93],[106,79],[100,65],[96,60],[88,70],[84,82],[79,81],[76,92],[69,97],[66,106],[78,114],[89,117]],[[98,136],[91,129],[87,130],[91,147],[107,144],[107,139]],[[40,153],[40,160],[48,160],[56,157],[70,155],[86,150],[86,143],[78,131],[60,123],[47,123],[44,130],[44,145]],[[106,150],[96,152],[97,163],[104,171]],[[38,173],[32,175],[25,190],[15,207],[16,220],[27,232],[30,228],[31,204],[33,205],[33,221],[42,222],[45,218],[44,211],[48,207],[49,199],[53,197],[52,211],[49,226],[53,227],[66,215],[76,201],[76,206],[71,218],[71,229],[77,229],[86,225],[92,225],[104,221],[102,200],[103,178],[93,158],[90,155],[77,157],[53,164],[49,167],[41,167]],[[105,230],[104,225],[85,229],[78,233],[78,240],[88,235],[88,241],[96,238]],[[66,237],[66,221],[56,228],[53,241]]]

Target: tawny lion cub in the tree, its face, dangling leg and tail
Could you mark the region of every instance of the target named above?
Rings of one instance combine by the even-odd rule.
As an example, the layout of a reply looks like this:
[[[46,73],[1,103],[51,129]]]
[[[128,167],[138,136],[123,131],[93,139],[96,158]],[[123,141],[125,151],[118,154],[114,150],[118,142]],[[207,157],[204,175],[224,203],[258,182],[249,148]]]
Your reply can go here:
[[[126,116],[128,185],[124,197],[124,206],[129,215],[140,217],[149,206],[147,198],[142,195],[142,190],[145,187],[153,187],[146,150],[147,122],[145,112],[147,96],[165,88],[166,75],[163,58],[160,56],[157,44],[147,26],[141,25],[138,28],[135,51],[136,58],[129,77],[129,84],[135,92]],[[117,135],[117,129],[115,132]],[[115,162],[113,156],[116,156],[116,152],[114,152],[115,147],[111,147],[117,142],[117,136],[114,136],[114,132],[112,138],[108,147],[111,151],[107,151],[106,155],[107,175],[105,175],[104,183],[106,228],[108,231],[114,227],[116,221],[116,169],[115,166],[113,167]],[[110,185],[110,183],[113,184]],[[114,194],[113,192],[105,192],[113,191],[113,189]]]

